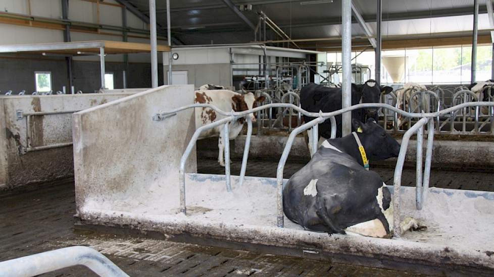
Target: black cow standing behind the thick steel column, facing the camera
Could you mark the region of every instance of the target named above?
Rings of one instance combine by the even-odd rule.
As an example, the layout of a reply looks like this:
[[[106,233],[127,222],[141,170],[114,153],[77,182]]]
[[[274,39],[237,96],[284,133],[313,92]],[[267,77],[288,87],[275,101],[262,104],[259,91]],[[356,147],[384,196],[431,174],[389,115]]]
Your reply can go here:
[[[376,81],[368,80],[363,85],[352,84],[352,105],[359,103],[379,103],[381,93],[390,93],[391,87],[380,87]],[[302,109],[309,112],[332,112],[341,109],[341,88],[328,88],[322,85],[309,84],[300,91],[300,104]],[[352,118],[365,122],[365,118],[377,120],[377,109],[358,109],[352,111]],[[314,117],[304,115],[305,122]],[[336,115],[336,137],[341,137],[341,115]],[[319,124],[319,136],[329,138],[331,125],[329,119]]]

